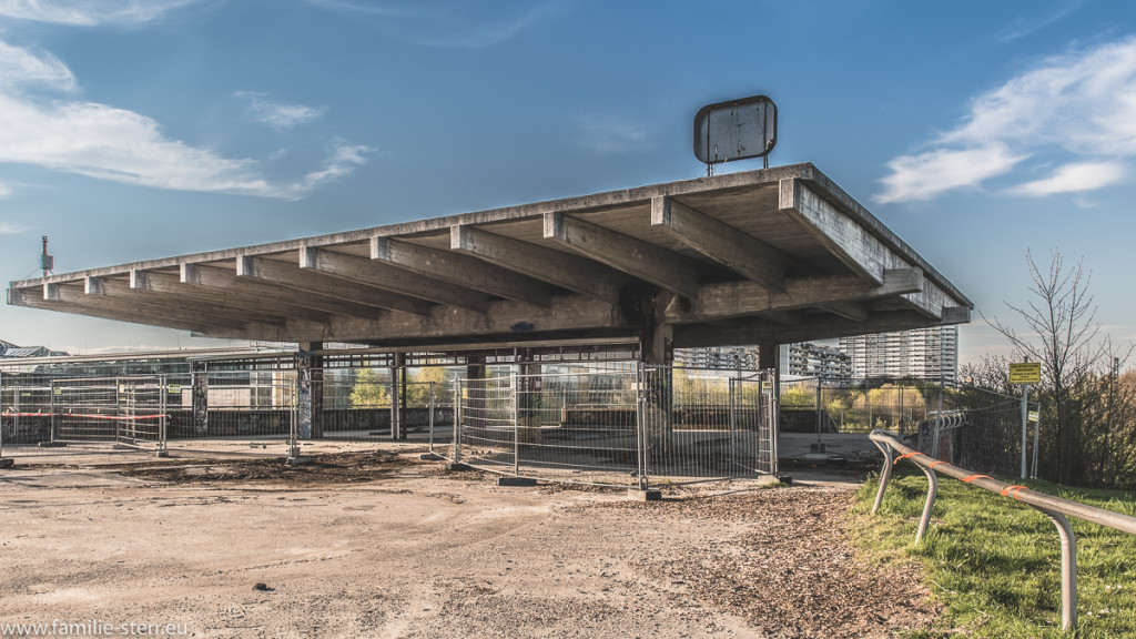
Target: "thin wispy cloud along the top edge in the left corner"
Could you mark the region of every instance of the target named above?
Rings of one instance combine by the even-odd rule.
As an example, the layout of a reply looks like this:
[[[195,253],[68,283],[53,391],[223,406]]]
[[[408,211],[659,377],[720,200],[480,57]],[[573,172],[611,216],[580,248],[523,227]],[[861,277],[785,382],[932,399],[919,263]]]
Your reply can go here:
[[[74,26],[139,25],[197,0],[0,0],[0,17]]]

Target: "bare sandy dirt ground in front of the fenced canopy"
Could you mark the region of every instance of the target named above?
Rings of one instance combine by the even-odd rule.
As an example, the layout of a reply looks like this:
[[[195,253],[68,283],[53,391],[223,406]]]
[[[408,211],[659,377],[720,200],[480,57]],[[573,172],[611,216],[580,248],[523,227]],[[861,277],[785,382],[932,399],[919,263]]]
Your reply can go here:
[[[620,639],[928,624],[917,574],[850,549],[854,483],[794,476],[642,503],[498,487],[394,446],[295,467],[17,464],[0,470],[0,622],[55,622],[57,636]]]

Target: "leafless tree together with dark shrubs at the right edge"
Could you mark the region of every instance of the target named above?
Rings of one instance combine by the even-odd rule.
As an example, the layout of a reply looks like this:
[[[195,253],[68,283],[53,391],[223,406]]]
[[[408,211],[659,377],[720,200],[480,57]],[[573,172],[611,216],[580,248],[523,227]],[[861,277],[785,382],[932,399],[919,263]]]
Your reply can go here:
[[[1133,345],[1102,335],[1089,293],[1091,275],[1053,251],[1049,267],[1027,252],[1030,299],[1006,307],[1016,329],[987,322],[1011,346],[1011,356],[985,356],[961,368],[975,385],[1020,395],[1010,384],[1010,362],[1037,362],[1042,381],[1030,389],[1041,403],[1038,476],[1067,486],[1136,489],[1136,372]],[[985,318],[985,316],[984,316]]]

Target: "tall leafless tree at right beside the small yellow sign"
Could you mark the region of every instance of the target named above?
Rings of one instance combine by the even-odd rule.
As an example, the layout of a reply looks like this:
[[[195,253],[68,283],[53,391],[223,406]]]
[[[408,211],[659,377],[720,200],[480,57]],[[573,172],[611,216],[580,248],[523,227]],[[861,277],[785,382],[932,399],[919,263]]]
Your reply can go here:
[[[1081,475],[1080,417],[1072,391],[1083,388],[1087,374],[1101,359],[1102,350],[1094,345],[1100,331],[1096,306],[1088,292],[1091,275],[1081,263],[1067,267],[1056,250],[1050,254],[1050,266],[1043,271],[1026,252],[1029,291],[1035,296],[1026,306],[1005,305],[1025,322],[1019,332],[997,317],[989,321],[996,331],[1013,345],[1016,355],[1042,365],[1043,387],[1051,391],[1054,420],[1054,457],[1056,481],[1070,483]],[[984,316],[985,318],[985,316]]]

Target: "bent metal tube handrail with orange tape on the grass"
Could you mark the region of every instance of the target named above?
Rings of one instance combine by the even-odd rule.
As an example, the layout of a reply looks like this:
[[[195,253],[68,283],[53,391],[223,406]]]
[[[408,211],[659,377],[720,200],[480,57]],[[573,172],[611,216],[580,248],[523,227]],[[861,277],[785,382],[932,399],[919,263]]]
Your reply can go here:
[[[1077,517],[1087,522],[1093,522],[1103,526],[1136,534],[1136,517],[1114,513],[1105,508],[1097,508],[1087,504],[1080,504],[1053,495],[1037,492],[1025,486],[1017,486],[999,481],[988,475],[972,473],[966,468],[960,468],[953,464],[935,459],[904,446],[896,439],[899,435],[875,430],[869,438],[884,454],[884,470],[879,474],[879,491],[876,493],[876,503],[871,507],[871,514],[876,514],[884,501],[884,490],[887,481],[892,476],[892,466],[900,459],[908,459],[927,475],[929,483],[927,490],[927,501],[924,504],[922,518],[919,521],[919,531],[916,533],[916,545],[922,540],[927,528],[930,525],[930,512],[935,505],[935,496],[938,492],[938,481],[936,473],[952,476],[964,483],[984,488],[991,492],[996,492],[1002,497],[1012,498],[1041,512],[1050,518],[1058,528],[1061,537],[1061,625],[1066,631],[1071,631],[1077,626],[1077,537],[1067,516]],[[894,457],[899,453],[899,457]]]

